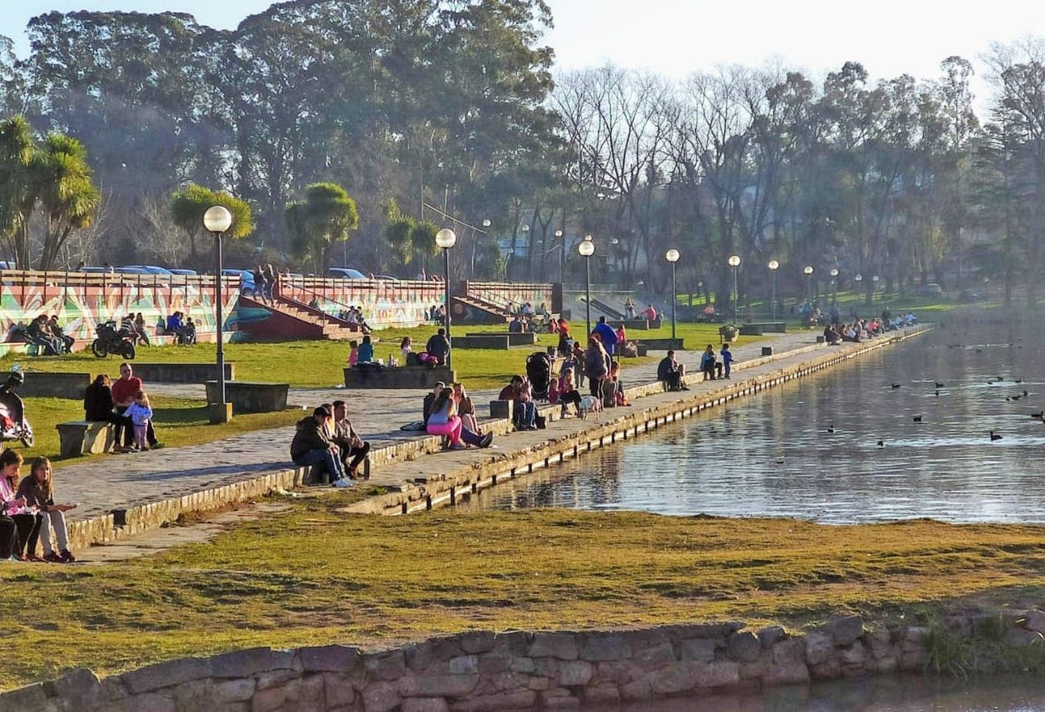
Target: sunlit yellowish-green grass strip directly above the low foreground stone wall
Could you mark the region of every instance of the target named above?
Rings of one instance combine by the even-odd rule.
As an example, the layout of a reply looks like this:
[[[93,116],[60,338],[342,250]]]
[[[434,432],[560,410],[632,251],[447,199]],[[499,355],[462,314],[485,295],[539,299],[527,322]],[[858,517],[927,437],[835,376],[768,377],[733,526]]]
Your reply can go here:
[[[468,628],[920,619],[1045,593],[1045,528],[535,509],[411,517],[293,502],[199,545],[123,563],[0,564],[0,687],[257,645]]]

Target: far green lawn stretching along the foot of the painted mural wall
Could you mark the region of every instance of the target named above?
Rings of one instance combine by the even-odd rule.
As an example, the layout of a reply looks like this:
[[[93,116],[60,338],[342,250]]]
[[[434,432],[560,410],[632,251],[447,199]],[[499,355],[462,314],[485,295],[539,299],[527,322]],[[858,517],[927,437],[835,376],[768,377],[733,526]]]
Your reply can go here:
[[[583,319],[579,323],[583,331]],[[578,323],[574,322],[574,331]],[[718,326],[714,324],[679,324],[678,335],[684,339],[686,348],[702,350],[707,343],[718,343]],[[374,332],[380,338],[374,351],[377,358],[394,355],[399,358],[399,342],[403,336],[414,339],[415,351],[423,349],[428,337],[435,333],[433,327],[415,329],[386,329]],[[457,326],[454,333],[465,332],[503,332],[507,327],[501,326]],[[631,331],[629,338],[668,338],[671,336],[671,325],[651,331]],[[740,342],[758,337],[742,337]],[[533,349],[512,349],[496,351],[493,349],[459,350],[454,354],[454,366],[458,377],[472,389],[500,388],[514,374],[526,372],[526,358],[537,350],[543,350],[559,342],[557,334],[539,334],[539,345]],[[342,370],[348,361],[349,347],[345,341],[283,341],[280,343],[230,343],[226,347],[225,356],[229,361],[235,361],[236,380],[268,381],[289,383],[296,387],[329,387],[344,383]],[[192,347],[143,347],[138,350],[136,360],[150,362],[183,362],[203,363],[214,359],[213,343],[199,343]],[[67,356],[27,357],[25,355],[8,355],[0,358],[0,369],[10,369],[18,363],[26,370],[84,372],[92,376],[106,371],[113,378],[119,377],[118,358],[95,358],[89,351],[80,351]],[[653,360],[652,357],[646,359]],[[642,362],[636,359],[628,363]],[[147,383],[145,384],[147,387]],[[74,420],[67,418],[66,420]],[[33,426],[36,427],[36,426]]]

